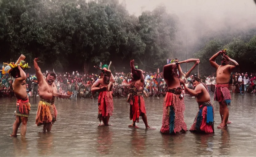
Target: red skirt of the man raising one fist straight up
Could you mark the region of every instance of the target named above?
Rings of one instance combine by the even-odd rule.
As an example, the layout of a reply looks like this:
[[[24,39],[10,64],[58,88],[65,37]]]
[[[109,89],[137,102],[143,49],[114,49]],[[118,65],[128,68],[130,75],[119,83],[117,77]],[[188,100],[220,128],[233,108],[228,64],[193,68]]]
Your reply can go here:
[[[142,95],[130,95],[130,120],[139,123],[141,113],[146,114],[145,101]]]

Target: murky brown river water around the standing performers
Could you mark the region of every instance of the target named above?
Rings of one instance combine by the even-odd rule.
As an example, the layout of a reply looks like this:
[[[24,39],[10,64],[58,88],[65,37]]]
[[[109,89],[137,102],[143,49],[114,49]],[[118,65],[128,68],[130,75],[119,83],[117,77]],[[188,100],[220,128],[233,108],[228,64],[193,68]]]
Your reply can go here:
[[[211,95],[213,100],[213,95]],[[31,111],[26,139],[11,138],[15,99],[0,99],[0,156],[256,156],[256,96],[233,94],[230,124],[226,130],[217,129],[221,119],[215,107],[215,134],[187,132],[175,136],[161,135],[163,98],[145,98],[149,125],[146,130],[130,129],[129,104],[125,98],[114,98],[114,115],[110,127],[98,127],[97,99],[55,101],[57,122],[52,131],[41,133],[35,125],[38,100],[31,98]],[[192,125],[198,105],[185,98],[185,122]],[[20,133],[20,130],[18,130]]]

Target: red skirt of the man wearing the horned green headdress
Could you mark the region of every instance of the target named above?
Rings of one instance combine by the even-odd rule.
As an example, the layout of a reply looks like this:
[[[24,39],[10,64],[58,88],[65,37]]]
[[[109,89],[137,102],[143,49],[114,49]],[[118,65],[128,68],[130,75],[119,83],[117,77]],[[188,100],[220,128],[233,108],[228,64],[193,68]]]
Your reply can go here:
[[[107,117],[108,114],[112,116],[114,105],[112,91],[102,91],[98,97],[98,116]]]

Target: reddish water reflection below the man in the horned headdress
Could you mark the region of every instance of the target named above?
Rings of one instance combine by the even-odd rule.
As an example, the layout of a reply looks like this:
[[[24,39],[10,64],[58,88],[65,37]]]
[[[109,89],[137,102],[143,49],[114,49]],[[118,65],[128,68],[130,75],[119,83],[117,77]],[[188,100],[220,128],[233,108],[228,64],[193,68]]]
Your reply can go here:
[[[101,155],[109,154],[113,144],[112,137],[113,132],[109,130],[109,127],[98,128],[97,150]]]

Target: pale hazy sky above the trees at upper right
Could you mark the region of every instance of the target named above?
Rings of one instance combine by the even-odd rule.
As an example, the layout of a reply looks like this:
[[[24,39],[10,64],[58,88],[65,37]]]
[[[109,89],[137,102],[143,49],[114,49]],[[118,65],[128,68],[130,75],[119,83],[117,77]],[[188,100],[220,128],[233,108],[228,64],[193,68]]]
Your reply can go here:
[[[123,0],[119,0],[120,3]],[[130,14],[166,6],[168,13],[179,18],[181,40],[194,44],[200,36],[219,30],[247,30],[256,27],[256,5],[253,0],[126,0]]]

